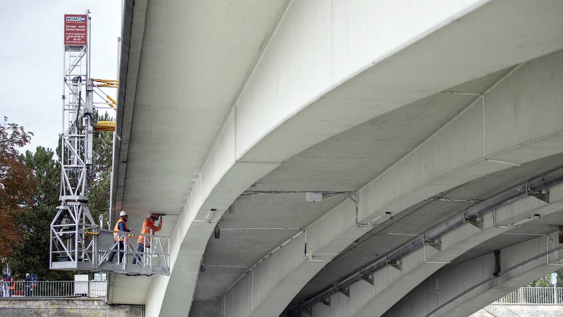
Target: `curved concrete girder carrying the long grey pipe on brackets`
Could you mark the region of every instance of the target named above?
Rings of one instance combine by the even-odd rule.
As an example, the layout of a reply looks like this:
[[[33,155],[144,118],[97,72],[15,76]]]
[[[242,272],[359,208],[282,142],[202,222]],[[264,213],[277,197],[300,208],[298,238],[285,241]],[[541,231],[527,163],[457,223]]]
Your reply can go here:
[[[563,209],[563,185],[551,187],[549,193],[552,198],[550,204],[534,197],[526,197],[497,208],[496,221],[498,224],[510,224],[517,219],[536,213],[548,215],[560,212]],[[423,285],[418,287],[426,289],[425,283],[430,283],[426,280],[431,279],[429,278],[431,275],[435,276],[435,272],[439,268],[486,240],[510,230],[510,228],[493,226],[492,217],[492,212],[482,215],[484,221],[482,230],[471,224],[463,224],[447,232],[437,241],[441,243],[440,251],[431,246],[425,246],[409,253],[399,261],[401,270],[386,266],[374,272],[375,285],[363,281],[352,284],[350,286],[350,298],[339,298],[339,294],[330,297],[331,302],[339,304],[331,305],[330,308],[323,307],[324,305],[320,303],[316,304],[313,307],[314,316],[340,316],[342,307],[337,307],[340,305],[345,307],[345,316],[350,317],[377,317],[388,314],[386,311],[391,309],[404,296],[410,296],[408,293],[417,288],[417,285]],[[432,280],[432,283],[435,283],[435,281]],[[440,289],[441,292],[444,291],[444,294],[451,293],[449,290],[442,289],[442,287]],[[436,302],[435,298],[432,300]],[[488,303],[485,305],[488,305]],[[479,309],[484,306],[479,307]]]

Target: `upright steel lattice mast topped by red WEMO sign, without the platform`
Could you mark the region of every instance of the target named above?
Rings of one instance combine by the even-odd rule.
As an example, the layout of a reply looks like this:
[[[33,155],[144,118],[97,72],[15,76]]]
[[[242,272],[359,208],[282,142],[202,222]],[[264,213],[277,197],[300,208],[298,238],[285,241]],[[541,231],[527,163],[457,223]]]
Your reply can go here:
[[[95,241],[86,234],[97,229],[87,206],[94,123],[89,13],[65,15],[60,206],[51,223],[51,253],[73,267],[79,258],[88,259],[94,268]]]

